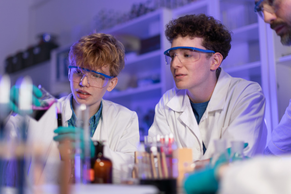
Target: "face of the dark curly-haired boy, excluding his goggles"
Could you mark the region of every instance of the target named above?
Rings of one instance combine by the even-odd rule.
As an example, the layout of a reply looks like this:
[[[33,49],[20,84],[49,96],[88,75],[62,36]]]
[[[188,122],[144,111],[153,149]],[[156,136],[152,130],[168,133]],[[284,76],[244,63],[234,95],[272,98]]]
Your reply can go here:
[[[203,38],[190,38],[189,36],[178,36],[172,42],[174,47],[195,47],[206,49],[201,45]],[[178,89],[203,88],[208,85],[210,77],[211,57],[207,58],[207,53],[200,53],[198,61],[192,63],[181,63],[178,57],[174,57],[171,63],[171,72]]]

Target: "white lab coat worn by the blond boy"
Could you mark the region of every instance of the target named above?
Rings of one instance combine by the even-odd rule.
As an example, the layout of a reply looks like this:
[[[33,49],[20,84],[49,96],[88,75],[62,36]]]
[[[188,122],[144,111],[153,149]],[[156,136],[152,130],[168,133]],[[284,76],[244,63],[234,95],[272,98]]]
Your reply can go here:
[[[72,116],[71,96],[70,94],[59,99],[62,102],[63,126],[68,126],[67,121]],[[57,183],[60,154],[58,143],[53,141],[55,135],[53,131],[57,128],[55,105],[51,106],[38,122],[28,116],[26,119],[28,123],[27,142],[42,149],[44,181]],[[21,116],[11,116],[7,123],[8,129],[16,129],[20,121]],[[137,114],[124,106],[102,99],[102,114],[92,140],[105,140],[104,156],[113,162],[113,182],[118,183],[120,165],[134,162],[134,151],[137,150],[139,144]],[[30,169],[33,169],[35,159],[32,157],[30,160]],[[29,177],[33,180],[31,171]]]

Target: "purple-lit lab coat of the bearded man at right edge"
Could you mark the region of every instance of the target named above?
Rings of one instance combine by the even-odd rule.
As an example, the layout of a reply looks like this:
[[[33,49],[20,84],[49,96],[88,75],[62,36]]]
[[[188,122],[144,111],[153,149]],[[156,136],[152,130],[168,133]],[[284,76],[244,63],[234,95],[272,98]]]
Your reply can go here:
[[[291,100],[279,125],[272,131],[268,147],[275,155],[291,154]]]

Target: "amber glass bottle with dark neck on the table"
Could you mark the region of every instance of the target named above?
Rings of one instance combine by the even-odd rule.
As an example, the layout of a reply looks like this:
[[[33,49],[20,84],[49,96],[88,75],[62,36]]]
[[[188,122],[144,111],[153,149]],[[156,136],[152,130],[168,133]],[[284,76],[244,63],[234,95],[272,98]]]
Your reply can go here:
[[[93,142],[95,146],[95,157],[91,161],[91,168],[94,171],[92,183],[112,183],[112,162],[103,155],[103,143]]]

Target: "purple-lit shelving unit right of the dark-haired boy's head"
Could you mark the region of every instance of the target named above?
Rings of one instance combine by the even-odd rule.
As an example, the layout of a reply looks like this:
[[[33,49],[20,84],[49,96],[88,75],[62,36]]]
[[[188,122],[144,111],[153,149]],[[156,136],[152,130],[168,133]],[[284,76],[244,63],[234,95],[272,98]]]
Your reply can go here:
[[[259,25],[253,1],[220,0],[221,22],[233,32],[231,49],[222,67],[233,77],[260,85]]]

